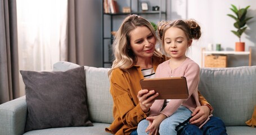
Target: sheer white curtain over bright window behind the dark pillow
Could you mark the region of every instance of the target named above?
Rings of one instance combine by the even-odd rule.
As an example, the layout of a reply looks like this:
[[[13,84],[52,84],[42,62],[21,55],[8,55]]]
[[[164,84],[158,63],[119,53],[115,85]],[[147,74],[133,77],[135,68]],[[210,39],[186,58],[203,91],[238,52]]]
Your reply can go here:
[[[68,0],[17,0],[20,70],[51,71],[66,60],[67,17]]]

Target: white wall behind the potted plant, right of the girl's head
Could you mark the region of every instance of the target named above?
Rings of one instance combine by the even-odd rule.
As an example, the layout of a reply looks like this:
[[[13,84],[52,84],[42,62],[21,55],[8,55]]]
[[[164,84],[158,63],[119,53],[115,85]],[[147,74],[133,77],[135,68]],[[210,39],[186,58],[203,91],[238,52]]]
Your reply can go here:
[[[250,0],[172,0],[168,3],[168,19],[195,19],[201,25],[202,37],[194,42],[188,56],[201,65],[201,48],[208,43],[221,43],[223,50],[234,50],[235,42],[239,41],[230,30],[236,30],[233,26],[235,20],[227,16],[233,14],[231,4],[242,8],[250,6],[248,16],[254,16],[248,22],[248,29],[242,35],[245,42],[245,51],[252,47],[252,65],[256,65],[256,1]],[[248,56],[228,55],[228,66],[248,65]]]

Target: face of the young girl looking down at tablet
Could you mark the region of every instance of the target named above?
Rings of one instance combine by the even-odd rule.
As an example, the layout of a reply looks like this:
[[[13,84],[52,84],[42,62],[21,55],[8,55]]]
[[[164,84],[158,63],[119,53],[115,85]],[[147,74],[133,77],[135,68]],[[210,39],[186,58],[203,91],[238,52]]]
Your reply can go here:
[[[164,34],[164,50],[172,59],[186,57],[187,48],[191,46],[192,39],[187,40],[183,30],[171,27]]]

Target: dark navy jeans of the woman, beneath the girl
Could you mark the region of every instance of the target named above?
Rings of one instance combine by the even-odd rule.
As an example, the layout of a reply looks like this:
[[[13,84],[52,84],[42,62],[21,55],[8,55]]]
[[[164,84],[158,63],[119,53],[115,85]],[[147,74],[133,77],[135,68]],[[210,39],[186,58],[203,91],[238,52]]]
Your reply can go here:
[[[178,131],[179,135],[206,134],[206,135],[226,135],[226,126],[218,117],[212,116],[209,121],[199,129],[196,125],[187,124]]]

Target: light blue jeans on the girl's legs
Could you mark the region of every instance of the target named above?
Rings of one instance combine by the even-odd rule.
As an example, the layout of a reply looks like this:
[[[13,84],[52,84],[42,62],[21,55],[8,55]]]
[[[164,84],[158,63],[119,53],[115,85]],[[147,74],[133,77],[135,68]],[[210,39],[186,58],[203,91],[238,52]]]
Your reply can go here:
[[[191,114],[192,112],[187,109],[187,107],[179,106],[177,111],[172,116],[169,116],[160,123],[158,131],[159,134],[177,134],[176,126],[187,120],[187,118],[189,118]],[[147,134],[145,131],[148,126],[149,122],[146,119],[141,120],[141,122],[138,123],[138,134]]]

